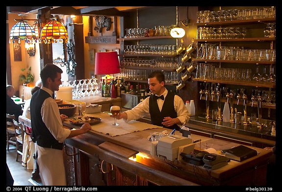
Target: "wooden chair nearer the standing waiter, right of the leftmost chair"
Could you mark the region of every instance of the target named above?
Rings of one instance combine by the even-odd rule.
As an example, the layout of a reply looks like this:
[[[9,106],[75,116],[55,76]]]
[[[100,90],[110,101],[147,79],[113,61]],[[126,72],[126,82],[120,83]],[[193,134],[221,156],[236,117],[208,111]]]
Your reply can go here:
[[[24,144],[24,129],[23,125],[16,120],[13,120],[16,134],[16,161],[18,161],[19,154],[23,155],[23,144]]]

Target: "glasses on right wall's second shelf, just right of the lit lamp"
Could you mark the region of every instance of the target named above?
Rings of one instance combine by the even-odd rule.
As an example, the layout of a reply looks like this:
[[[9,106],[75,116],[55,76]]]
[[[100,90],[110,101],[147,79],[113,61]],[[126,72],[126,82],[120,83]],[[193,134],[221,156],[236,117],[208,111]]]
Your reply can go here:
[[[238,39],[245,38],[247,28],[243,27],[198,27],[198,39]]]

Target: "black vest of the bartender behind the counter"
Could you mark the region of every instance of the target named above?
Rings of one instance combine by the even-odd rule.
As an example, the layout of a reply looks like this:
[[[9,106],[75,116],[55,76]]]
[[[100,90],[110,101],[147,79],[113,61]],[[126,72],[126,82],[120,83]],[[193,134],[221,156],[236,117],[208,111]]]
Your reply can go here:
[[[156,126],[161,126],[164,128],[176,129],[179,130],[178,125],[174,124],[171,127],[165,127],[162,125],[164,117],[176,118],[177,113],[174,109],[174,94],[167,92],[167,95],[164,100],[164,105],[162,111],[158,107],[157,100],[154,98],[154,95],[150,96],[149,99],[149,111],[151,115],[151,123]]]

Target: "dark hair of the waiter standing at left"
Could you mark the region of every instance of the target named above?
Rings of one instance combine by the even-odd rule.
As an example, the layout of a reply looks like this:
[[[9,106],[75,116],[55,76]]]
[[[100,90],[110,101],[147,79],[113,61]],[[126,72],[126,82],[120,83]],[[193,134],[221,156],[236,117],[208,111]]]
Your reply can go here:
[[[62,69],[54,64],[46,64],[40,72],[42,85],[46,85],[47,78],[55,81],[57,73],[63,73]]]

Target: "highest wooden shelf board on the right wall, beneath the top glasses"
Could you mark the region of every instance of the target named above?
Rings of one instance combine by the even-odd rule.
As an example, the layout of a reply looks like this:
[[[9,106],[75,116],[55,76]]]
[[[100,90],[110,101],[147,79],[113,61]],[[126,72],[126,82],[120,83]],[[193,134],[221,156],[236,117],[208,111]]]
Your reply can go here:
[[[197,26],[219,26],[219,25],[235,25],[235,24],[261,24],[266,22],[276,22],[276,18],[261,18],[252,20],[232,20],[232,21],[216,21],[196,23]]]

